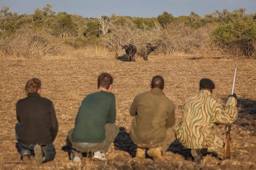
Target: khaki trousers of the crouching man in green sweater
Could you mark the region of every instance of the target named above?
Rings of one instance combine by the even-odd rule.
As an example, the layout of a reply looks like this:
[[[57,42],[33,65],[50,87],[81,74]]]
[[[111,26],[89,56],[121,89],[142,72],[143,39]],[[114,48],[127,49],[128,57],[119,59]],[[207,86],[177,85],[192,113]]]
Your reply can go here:
[[[108,148],[112,142],[114,142],[115,137],[117,136],[119,129],[115,124],[106,124],[105,125],[105,140],[101,143],[82,143],[72,141],[72,133],[74,129],[71,129],[68,132],[68,140],[71,142],[72,148],[79,152],[94,152],[101,151],[104,153],[108,152]]]

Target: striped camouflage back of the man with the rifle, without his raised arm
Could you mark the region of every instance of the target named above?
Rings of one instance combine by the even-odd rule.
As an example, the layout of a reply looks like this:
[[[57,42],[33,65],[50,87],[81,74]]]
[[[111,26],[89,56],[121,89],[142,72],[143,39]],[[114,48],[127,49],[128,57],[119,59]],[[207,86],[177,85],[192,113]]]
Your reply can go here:
[[[182,124],[179,125],[187,133],[179,131],[176,133],[177,138],[182,139],[180,142],[184,147],[191,149],[207,148],[209,145],[207,142],[214,140],[214,136],[208,132],[208,129],[213,126],[214,113],[212,108],[216,102],[209,90],[201,90],[187,99],[183,108]],[[209,138],[209,140],[205,141],[205,138]]]

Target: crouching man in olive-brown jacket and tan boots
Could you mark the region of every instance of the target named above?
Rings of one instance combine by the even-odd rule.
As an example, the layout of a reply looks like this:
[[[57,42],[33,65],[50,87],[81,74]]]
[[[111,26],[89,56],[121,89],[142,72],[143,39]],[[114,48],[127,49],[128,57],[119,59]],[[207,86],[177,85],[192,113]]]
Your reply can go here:
[[[175,140],[175,106],[163,93],[164,80],[155,76],[150,92],[137,95],[130,107],[135,116],[131,124],[130,137],[137,145],[136,157],[144,159],[145,149],[154,160],[163,160],[162,154]]]

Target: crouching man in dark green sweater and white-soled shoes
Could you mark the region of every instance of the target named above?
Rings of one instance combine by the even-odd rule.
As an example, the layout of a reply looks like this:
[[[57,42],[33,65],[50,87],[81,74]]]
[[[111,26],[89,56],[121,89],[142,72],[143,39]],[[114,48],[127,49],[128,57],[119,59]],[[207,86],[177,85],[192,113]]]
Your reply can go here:
[[[82,101],[74,129],[68,132],[74,162],[81,161],[83,152],[93,152],[93,159],[107,160],[105,153],[119,132],[115,125],[115,95],[110,93],[112,84],[113,77],[102,73],[98,77],[98,90]]]

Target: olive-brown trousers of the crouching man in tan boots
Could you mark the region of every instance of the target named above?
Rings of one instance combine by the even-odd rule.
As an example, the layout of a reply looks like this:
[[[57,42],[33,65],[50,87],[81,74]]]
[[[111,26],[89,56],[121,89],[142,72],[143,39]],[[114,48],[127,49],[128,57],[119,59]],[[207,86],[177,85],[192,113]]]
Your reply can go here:
[[[164,141],[162,141],[161,143],[158,144],[139,144],[136,143],[135,141],[133,141],[135,143],[135,145],[137,145],[137,147],[139,148],[156,148],[156,147],[162,147],[162,152],[166,152],[168,147],[171,145],[171,143],[173,143],[175,141],[175,133],[174,133],[174,129],[173,128],[168,128],[166,130],[166,138],[164,139]]]

